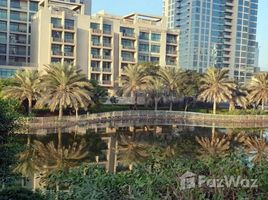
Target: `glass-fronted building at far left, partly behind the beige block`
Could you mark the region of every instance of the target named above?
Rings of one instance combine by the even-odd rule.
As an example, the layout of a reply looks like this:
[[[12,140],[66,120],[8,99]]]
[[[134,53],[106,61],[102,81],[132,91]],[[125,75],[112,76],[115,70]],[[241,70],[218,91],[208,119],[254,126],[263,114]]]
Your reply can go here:
[[[44,6],[90,14],[91,0],[0,0],[0,77],[22,67],[35,67],[30,60],[31,19]]]

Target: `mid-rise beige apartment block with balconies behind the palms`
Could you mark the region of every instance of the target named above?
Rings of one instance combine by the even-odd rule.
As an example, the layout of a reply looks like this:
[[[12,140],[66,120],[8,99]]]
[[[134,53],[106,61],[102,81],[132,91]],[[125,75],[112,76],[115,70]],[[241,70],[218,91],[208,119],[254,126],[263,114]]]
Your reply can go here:
[[[40,9],[32,24],[33,62],[40,67],[56,62],[73,63],[89,79],[110,89],[128,65],[154,62],[179,67],[179,33],[167,30],[161,17],[119,17],[104,12],[86,16],[47,7]]]

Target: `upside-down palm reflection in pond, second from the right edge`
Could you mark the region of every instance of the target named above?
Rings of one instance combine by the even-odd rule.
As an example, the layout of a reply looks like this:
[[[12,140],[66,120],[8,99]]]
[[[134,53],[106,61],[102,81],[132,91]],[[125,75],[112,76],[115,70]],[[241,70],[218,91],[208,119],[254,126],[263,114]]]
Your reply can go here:
[[[224,135],[218,136],[215,127],[212,128],[211,139],[207,137],[196,137],[196,141],[201,145],[201,153],[204,157],[225,156],[230,148],[230,142]]]

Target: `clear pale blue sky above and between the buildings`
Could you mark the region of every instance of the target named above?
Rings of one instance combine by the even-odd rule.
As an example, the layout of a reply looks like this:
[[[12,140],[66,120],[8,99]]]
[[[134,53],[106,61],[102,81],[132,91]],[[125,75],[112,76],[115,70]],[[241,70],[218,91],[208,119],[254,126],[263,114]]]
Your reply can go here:
[[[104,10],[109,14],[127,15],[138,12],[162,15],[162,0],[92,0],[92,11]],[[259,42],[259,67],[268,71],[268,1],[259,0],[257,41]]]

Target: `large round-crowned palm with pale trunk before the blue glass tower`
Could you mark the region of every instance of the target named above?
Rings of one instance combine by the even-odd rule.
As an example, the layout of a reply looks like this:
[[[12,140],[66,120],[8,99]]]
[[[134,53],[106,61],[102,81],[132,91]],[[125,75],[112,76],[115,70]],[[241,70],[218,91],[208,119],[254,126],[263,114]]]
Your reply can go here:
[[[233,81],[228,79],[228,69],[208,68],[201,78],[199,99],[213,102],[213,114],[216,114],[217,103],[228,101],[235,88]]]

